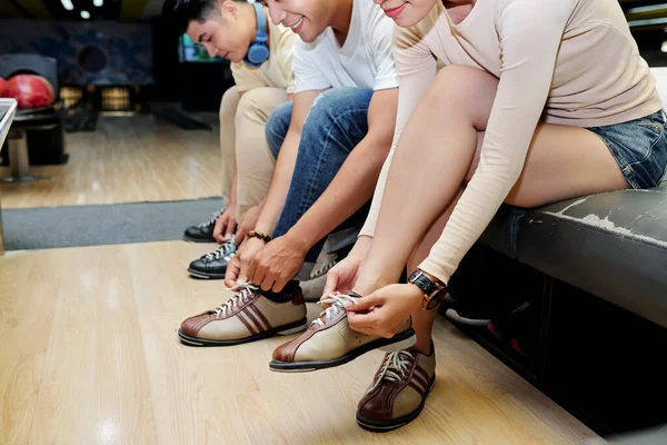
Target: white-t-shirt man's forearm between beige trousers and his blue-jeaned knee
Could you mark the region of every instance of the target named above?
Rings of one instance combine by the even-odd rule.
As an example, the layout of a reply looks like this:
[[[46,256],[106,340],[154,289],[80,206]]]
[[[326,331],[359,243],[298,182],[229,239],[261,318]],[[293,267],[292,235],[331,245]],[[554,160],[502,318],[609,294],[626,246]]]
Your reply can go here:
[[[282,212],[282,207],[285,206],[291,184],[295,165],[297,164],[300,137],[300,132],[293,128],[290,128],[285,137],[278,160],[276,161],[271,186],[257,220],[256,230],[272,234],[278,224],[278,218],[280,218],[280,214]]]

